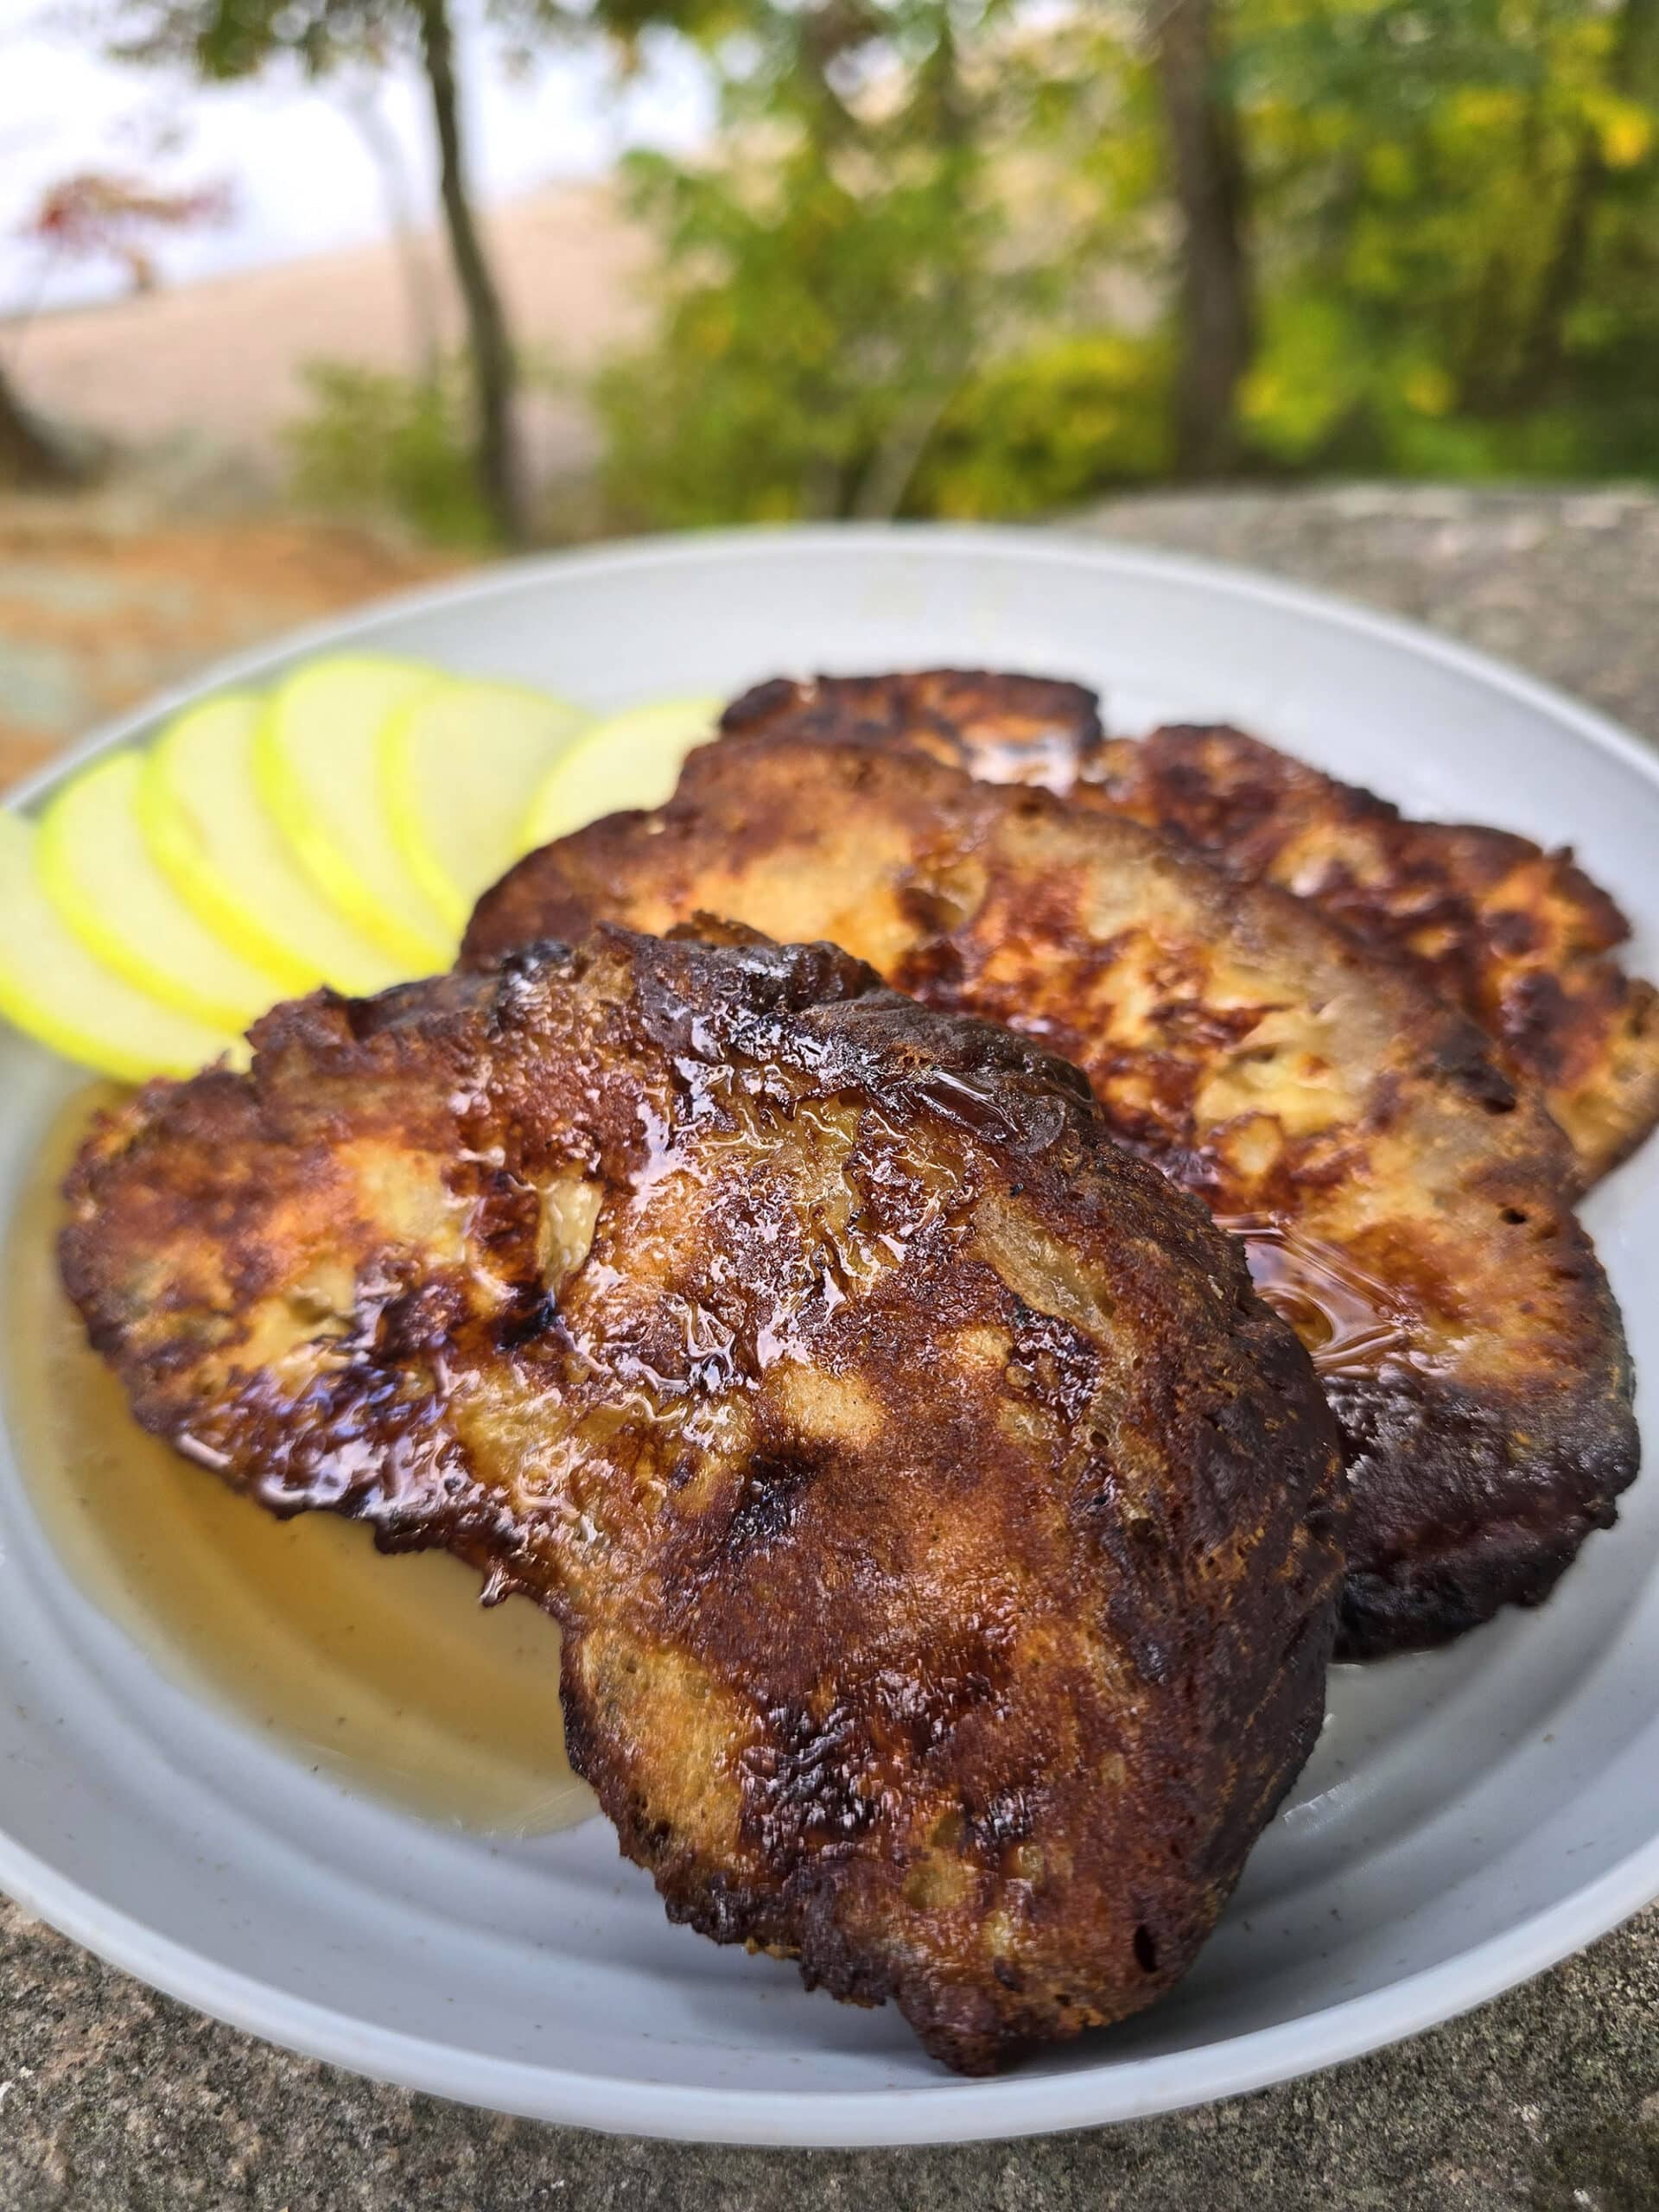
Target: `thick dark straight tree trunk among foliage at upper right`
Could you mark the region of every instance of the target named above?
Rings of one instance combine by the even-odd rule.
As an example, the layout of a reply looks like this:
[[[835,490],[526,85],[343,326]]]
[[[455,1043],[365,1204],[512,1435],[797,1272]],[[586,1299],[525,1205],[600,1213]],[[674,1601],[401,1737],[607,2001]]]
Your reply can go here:
[[[1157,0],[1157,77],[1181,208],[1175,458],[1183,476],[1239,462],[1237,396],[1256,343],[1239,119],[1219,82],[1214,0]]]

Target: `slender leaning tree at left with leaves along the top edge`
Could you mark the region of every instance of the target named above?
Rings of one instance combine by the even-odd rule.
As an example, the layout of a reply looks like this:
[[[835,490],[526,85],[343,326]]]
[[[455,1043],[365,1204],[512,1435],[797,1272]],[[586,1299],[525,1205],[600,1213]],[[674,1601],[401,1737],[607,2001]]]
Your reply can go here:
[[[564,11],[555,0],[524,0],[522,13],[555,22]],[[341,62],[383,62],[400,46],[418,55],[431,97],[438,192],[467,312],[478,487],[502,540],[520,544],[529,520],[518,365],[467,179],[449,0],[117,0],[113,40],[126,60],[181,60],[204,77],[254,75],[276,58],[323,75]]]

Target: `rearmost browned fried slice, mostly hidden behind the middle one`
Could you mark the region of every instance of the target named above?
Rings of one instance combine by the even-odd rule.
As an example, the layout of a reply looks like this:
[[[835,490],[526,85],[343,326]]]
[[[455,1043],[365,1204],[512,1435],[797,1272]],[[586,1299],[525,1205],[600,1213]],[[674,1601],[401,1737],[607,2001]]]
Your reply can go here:
[[[1307,898],[1376,951],[1416,962],[1511,1073],[1544,1086],[1584,1183],[1659,1124],[1659,995],[1613,958],[1630,925],[1571,852],[1409,821],[1243,730],[1106,739],[1093,692],[1046,677],[776,679],[737,699],[723,728],[885,743],[987,783],[1042,783],[1183,836],[1241,883]]]

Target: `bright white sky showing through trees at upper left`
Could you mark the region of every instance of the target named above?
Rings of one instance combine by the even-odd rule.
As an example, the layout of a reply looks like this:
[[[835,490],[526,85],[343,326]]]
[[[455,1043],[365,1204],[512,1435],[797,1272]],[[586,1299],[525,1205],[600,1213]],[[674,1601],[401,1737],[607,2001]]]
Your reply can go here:
[[[473,184],[507,199],[553,179],[604,173],[626,146],[695,146],[708,131],[701,77],[655,55],[619,88],[597,53],[553,53],[513,75],[500,42],[458,9]],[[422,212],[436,197],[431,128],[416,71],[389,71],[369,97],[400,150]],[[179,137],[168,146],[170,135]],[[161,148],[161,150],[157,150]],[[117,299],[117,263],[64,263],[22,237],[42,192],[82,170],[150,186],[228,186],[223,226],[150,234],[164,283],[352,246],[387,230],[387,184],[341,86],[296,73],[204,88],[104,60],[40,0],[0,0],[0,316]]]

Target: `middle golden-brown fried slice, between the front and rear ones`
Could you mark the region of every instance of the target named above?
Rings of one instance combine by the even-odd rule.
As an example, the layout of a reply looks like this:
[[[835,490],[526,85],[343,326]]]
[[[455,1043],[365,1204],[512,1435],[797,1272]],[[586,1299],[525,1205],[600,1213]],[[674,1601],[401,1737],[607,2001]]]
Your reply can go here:
[[[1121,1141],[1245,1232],[1347,1436],[1345,1655],[1537,1604],[1613,1522],[1630,1369],[1564,1139],[1400,962],[1139,823],[770,734],[695,752],[657,814],[531,854],[465,958],[697,911],[834,938],[1042,1040]]]

